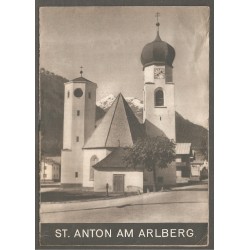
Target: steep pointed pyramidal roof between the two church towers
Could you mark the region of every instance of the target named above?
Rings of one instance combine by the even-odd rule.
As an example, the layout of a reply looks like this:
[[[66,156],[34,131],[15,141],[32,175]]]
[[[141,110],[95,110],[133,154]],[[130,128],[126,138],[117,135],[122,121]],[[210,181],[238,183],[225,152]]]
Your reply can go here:
[[[132,146],[143,135],[143,126],[119,94],[84,148]]]

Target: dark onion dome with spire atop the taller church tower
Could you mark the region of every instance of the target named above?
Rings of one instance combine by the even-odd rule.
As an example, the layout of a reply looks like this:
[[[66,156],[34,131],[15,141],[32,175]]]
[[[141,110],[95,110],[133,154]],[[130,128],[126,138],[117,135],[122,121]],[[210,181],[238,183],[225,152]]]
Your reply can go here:
[[[159,23],[156,26],[159,29]],[[153,42],[144,46],[141,53],[141,63],[143,68],[149,65],[168,65],[173,67],[173,61],[175,58],[174,48],[161,40],[159,30],[157,31],[156,38]]]

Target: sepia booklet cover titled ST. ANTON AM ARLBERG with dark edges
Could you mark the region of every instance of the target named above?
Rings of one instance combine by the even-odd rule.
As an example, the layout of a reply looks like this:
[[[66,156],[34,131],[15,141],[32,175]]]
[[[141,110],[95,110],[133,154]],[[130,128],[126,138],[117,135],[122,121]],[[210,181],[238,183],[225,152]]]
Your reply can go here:
[[[36,135],[36,249],[214,249],[213,1],[37,1]]]

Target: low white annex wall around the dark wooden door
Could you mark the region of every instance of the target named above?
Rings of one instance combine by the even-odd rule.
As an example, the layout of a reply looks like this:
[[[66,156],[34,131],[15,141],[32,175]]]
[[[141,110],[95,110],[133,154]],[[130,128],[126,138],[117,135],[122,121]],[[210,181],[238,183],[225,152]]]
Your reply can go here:
[[[113,175],[124,175],[124,191],[134,192],[140,190],[143,192],[143,172],[142,171],[94,171],[95,182],[94,191],[101,192],[106,191],[106,184],[109,184],[109,191],[113,192]]]

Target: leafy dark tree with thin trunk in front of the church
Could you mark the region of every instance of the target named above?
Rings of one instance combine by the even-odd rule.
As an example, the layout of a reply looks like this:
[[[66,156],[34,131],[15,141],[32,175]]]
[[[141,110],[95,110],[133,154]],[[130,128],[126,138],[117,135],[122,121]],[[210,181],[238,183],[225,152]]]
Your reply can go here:
[[[152,171],[153,191],[156,191],[156,168],[167,168],[175,160],[175,143],[166,137],[145,137],[138,139],[126,150],[124,159],[128,167],[142,165]]]

